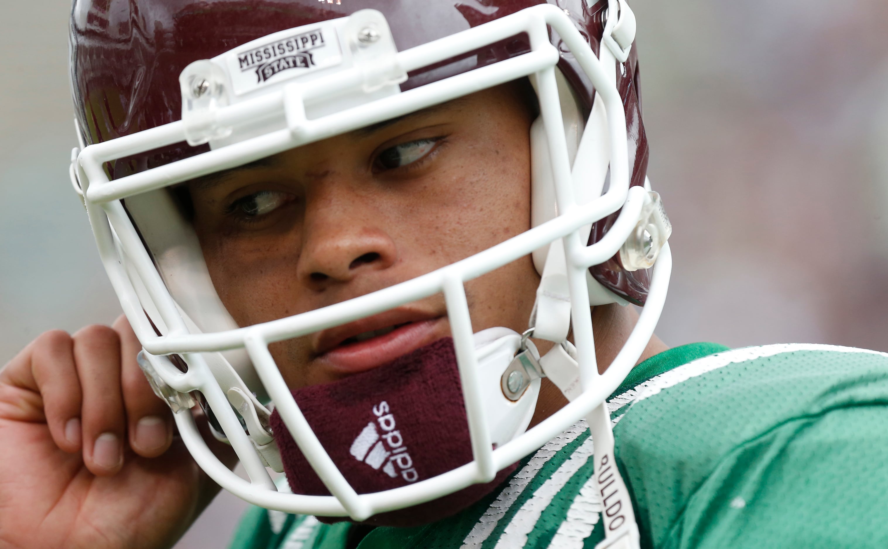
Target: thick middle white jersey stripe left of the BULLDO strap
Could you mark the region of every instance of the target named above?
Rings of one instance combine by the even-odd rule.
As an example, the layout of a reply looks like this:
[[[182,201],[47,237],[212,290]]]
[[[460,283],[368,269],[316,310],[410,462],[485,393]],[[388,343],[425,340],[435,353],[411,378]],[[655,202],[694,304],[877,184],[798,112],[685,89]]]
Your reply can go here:
[[[503,530],[503,536],[499,538],[496,549],[508,549],[510,547],[523,547],[527,544],[527,534],[533,531],[536,522],[546,507],[552,502],[552,498],[558,495],[567,481],[585,465],[586,461],[595,453],[592,447],[591,436],[577,448],[561,467],[553,473],[543,485],[540,486],[532,498],[528,499],[512,517],[509,525]]]

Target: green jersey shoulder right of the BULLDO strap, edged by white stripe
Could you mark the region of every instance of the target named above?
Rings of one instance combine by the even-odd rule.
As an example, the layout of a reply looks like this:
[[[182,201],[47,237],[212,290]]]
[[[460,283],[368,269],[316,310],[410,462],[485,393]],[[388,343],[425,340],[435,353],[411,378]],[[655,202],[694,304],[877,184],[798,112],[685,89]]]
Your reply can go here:
[[[841,526],[860,526],[867,501],[888,505],[888,474],[876,457],[888,451],[885,353],[734,349],[640,382],[609,406],[639,525],[655,545],[844,545],[853,532],[886,536],[884,527]],[[858,517],[836,511],[842,498]]]

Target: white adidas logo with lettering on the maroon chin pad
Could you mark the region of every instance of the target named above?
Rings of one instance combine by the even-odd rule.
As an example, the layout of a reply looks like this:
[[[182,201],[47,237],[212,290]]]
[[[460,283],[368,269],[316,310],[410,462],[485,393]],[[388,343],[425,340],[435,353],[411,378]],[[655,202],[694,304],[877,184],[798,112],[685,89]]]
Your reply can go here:
[[[404,438],[394,428],[394,414],[389,412],[389,405],[385,401],[374,406],[376,422],[370,421],[361,430],[349,452],[354,459],[363,461],[377,471],[382,467],[383,472],[392,478],[400,474],[405,481],[416,482],[419,474],[416,473],[416,467],[413,467],[413,459],[410,458]],[[382,435],[379,434],[380,431]]]

